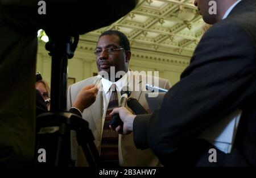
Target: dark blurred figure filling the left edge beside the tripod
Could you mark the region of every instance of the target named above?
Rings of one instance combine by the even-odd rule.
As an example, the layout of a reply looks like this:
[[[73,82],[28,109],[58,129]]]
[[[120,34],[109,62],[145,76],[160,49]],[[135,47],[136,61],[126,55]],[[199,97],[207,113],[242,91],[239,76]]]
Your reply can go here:
[[[36,34],[4,14],[0,2],[0,166],[33,164]]]

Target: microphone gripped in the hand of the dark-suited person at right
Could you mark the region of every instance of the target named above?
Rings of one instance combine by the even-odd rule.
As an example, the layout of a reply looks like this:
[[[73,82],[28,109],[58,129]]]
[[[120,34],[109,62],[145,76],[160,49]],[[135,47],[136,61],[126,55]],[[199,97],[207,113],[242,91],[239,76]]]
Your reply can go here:
[[[131,95],[128,86],[124,86],[121,90],[121,101],[119,107],[125,107],[127,98]],[[123,122],[119,117],[119,114],[114,114],[110,120],[110,126],[115,129],[117,126],[123,126]]]

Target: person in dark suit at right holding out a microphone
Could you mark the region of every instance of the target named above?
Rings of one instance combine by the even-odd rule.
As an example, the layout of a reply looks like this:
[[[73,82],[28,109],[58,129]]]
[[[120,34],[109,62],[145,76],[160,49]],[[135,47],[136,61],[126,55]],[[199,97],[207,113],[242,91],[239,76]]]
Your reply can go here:
[[[180,81],[166,93],[152,115],[113,110],[124,122],[117,131],[133,131],[137,148],[150,147],[164,165],[256,165],[256,1],[196,0],[205,22],[214,24],[201,39]],[[242,109],[233,150],[217,150],[197,137],[226,115]]]

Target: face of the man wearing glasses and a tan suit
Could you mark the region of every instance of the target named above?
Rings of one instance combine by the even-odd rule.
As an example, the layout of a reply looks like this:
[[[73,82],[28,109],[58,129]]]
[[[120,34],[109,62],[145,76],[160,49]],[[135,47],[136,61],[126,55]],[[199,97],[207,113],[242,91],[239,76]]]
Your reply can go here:
[[[122,48],[119,45],[119,38],[116,35],[104,35],[98,40],[96,50],[104,50],[106,48]],[[115,73],[118,71],[128,71],[128,63],[130,60],[130,51],[125,49],[115,50],[112,54],[104,50],[96,55],[98,71],[106,71],[110,73],[110,67],[115,67]]]

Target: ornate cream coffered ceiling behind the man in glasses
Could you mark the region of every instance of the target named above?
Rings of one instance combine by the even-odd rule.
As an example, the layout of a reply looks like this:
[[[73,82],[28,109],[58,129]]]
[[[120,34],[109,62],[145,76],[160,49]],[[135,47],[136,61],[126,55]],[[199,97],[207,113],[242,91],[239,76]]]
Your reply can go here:
[[[81,35],[80,43],[95,44],[101,32],[115,29],[127,35],[132,49],[154,51],[162,55],[192,56],[204,26],[193,2],[139,0],[134,10],[117,22]]]

